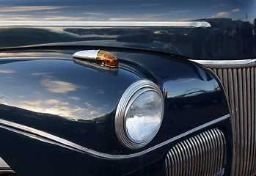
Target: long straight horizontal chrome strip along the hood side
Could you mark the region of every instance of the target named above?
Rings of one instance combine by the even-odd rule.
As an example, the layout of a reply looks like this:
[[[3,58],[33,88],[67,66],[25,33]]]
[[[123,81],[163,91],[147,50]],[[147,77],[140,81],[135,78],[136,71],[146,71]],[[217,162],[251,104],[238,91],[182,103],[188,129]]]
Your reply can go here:
[[[0,21],[0,26],[167,26],[211,27],[205,21]]]

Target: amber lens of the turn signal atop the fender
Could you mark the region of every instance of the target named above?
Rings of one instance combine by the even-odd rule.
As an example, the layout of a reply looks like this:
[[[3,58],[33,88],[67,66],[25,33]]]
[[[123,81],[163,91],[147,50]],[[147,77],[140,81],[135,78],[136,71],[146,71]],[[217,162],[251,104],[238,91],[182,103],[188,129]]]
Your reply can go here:
[[[118,58],[116,55],[106,51],[99,51],[96,59],[103,60],[103,64],[108,67],[118,67]]]

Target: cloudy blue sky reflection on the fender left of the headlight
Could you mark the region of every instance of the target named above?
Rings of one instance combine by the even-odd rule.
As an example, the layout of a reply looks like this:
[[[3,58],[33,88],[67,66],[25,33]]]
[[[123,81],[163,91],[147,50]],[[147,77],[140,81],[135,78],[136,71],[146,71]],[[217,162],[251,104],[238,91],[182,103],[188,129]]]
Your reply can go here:
[[[111,96],[114,91],[111,85],[98,81],[103,73],[87,70],[72,60],[23,61],[0,66],[0,103],[3,105],[70,120],[92,120],[109,114],[118,100]],[[75,70],[77,73],[73,74]],[[83,78],[79,73],[84,73]],[[91,77],[95,79],[89,79]],[[126,87],[119,87],[122,86]],[[121,96],[122,91],[114,94]]]

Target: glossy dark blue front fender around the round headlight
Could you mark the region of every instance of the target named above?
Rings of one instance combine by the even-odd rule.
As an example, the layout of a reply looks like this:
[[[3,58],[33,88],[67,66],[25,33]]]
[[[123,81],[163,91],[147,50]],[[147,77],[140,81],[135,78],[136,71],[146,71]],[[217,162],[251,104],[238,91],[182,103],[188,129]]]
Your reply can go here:
[[[60,51],[59,47],[53,47],[51,50],[50,48],[47,50],[34,48],[30,51],[3,52],[2,56],[5,56],[5,59],[1,59],[0,65],[1,119],[46,131],[102,153],[122,155],[153,147],[180,133],[189,131],[191,128],[229,114],[224,92],[216,78],[208,70],[194,62],[175,58],[169,54],[149,51],[102,49],[120,57],[120,68],[117,73],[113,74],[106,70],[100,70],[99,67],[93,68],[91,65],[87,67],[87,65],[78,65],[73,62],[73,52],[79,51],[81,48],[76,50],[75,47],[72,47],[72,50],[66,48],[66,50]],[[21,57],[20,59],[13,58],[15,56]],[[43,56],[48,56],[48,58],[43,58]],[[122,147],[117,140],[114,132],[114,113],[118,100],[125,89],[141,78],[152,80],[163,90],[165,96],[164,121],[160,131],[150,144],[141,150],[128,150]],[[222,130],[226,135],[230,134],[230,122],[226,120],[224,123],[226,125],[223,125]],[[215,127],[220,128],[221,126],[216,124]],[[60,151],[67,150],[65,153],[81,155],[78,157],[83,158],[81,163],[76,157],[73,158],[80,164],[89,162],[89,165],[84,168],[80,168],[78,164],[81,171],[79,173],[95,174],[93,170],[97,169],[98,174],[107,170],[106,175],[108,173],[123,175],[145,168],[145,166],[148,166],[149,169],[158,164],[160,164],[159,167],[164,166],[165,155],[169,148],[176,143],[167,144],[136,158],[111,161],[111,159],[95,158],[87,153],[59,147],[54,143],[49,144],[45,140],[38,140],[38,138],[30,139],[26,135],[23,136],[24,134],[2,131],[5,131],[2,135],[10,135],[10,138],[15,140],[6,140],[4,144],[1,144],[0,155],[8,164],[11,164],[18,175],[19,172],[21,175],[26,172],[26,169],[23,170],[23,164],[33,165],[37,168],[34,170],[43,169],[37,166],[37,163],[29,156],[32,153],[37,153],[38,158],[43,157],[47,160],[48,157],[51,157],[50,155],[45,156],[44,153],[53,153],[53,150],[58,149]],[[189,136],[191,135],[194,133],[189,134]],[[227,135],[227,139],[228,137],[230,136]],[[228,139],[228,148],[230,149],[231,140]],[[32,141],[32,143],[28,141]],[[13,147],[8,147],[16,145],[19,146],[17,151]],[[19,152],[21,150],[26,152]],[[13,155],[27,155],[29,158],[20,164],[20,160],[12,161]],[[56,157],[53,156],[54,158]],[[139,161],[138,158],[140,158]],[[67,160],[70,162],[73,159]],[[60,160],[65,161],[62,158]],[[54,162],[56,168],[63,165],[62,162],[61,164]],[[102,167],[102,165],[109,166],[109,164],[113,165],[109,169]],[[79,170],[76,166],[72,166],[73,163],[68,165],[70,165],[68,172]],[[126,166],[124,167],[124,165]],[[44,166],[52,168],[51,163]],[[95,166],[100,166],[101,169],[95,168]],[[55,175],[61,173],[61,171],[49,170]],[[113,172],[113,170],[116,171]]]

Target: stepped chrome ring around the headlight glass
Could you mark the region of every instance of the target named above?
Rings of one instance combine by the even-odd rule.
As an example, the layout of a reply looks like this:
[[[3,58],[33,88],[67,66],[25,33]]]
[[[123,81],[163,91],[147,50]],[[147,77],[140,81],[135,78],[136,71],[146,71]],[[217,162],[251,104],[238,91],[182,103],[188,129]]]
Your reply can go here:
[[[139,95],[142,95],[144,92],[147,91],[153,91],[156,92],[160,98],[162,99],[163,103],[163,111],[161,113],[161,122],[159,122],[158,127],[156,128],[156,131],[145,141],[136,141],[132,139],[128,131],[126,131],[126,126],[125,126],[125,121],[126,121],[126,114],[128,113],[128,109],[131,106],[131,104],[136,100],[136,98],[139,97]],[[115,132],[117,134],[117,138],[119,142],[129,148],[129,149],[139,149],[141,147],[144,147],[146,144],[148,144],[155,136],[156,133],[158,132],[162,120],[164,117],[164,96],[161,92],[161,89],[154,84],[152,81],[149,81],[147,79],[142,79],[139,81],[134,82],[131,84],[128,89],[125,90],[123,93],[122,97],[120,98],[120,101],[117,105],[117,111],[114,119],[114,126],[115,126]]]

